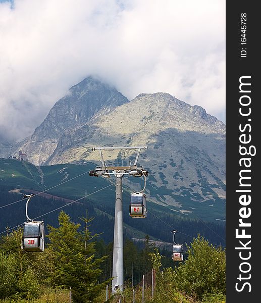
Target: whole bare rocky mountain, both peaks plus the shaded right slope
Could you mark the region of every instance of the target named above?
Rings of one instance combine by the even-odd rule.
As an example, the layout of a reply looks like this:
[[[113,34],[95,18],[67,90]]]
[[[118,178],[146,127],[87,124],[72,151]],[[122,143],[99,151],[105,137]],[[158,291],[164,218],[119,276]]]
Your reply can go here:
[[[143,93],[128,102],[89,77],[56,103],[19,149],[39,166],[99,161],[93,146],[147,145],[139,164],[150,172],[147,192],[154,203],[185,214],[204,204],[206,214],[222,209],[225,216],[225,134],[224,123],[168,93]],[[130,151],[103,156],[107,163],[135,159]],[[135,191],[143,187],[141,178],[124,182]]]

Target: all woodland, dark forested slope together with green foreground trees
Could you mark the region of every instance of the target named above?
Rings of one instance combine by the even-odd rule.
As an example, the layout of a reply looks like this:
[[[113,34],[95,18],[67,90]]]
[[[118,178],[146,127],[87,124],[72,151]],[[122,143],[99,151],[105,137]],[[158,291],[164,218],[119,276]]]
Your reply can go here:
[[[105,193],[102,203],[86,197],[72,204],[35,195],[28,213],[44,221],[45,249],[26,252],[21,248],[26,189],[13,188],[0,186],[0,302],[225,302],[224,222],[166,213],[149,202],[147,218],[133,219],[124,190],[124,290],[113,295],[114,201]],[[171,258],[173,230],[183,244],[183,262]]]

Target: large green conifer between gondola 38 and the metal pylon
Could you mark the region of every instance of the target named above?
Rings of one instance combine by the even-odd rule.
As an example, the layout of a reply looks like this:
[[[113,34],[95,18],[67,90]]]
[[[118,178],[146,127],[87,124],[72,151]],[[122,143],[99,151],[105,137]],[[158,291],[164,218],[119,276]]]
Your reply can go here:
[[[59,227],[48,226],[48,249],[53,251],[54,271],[49,281],[54,286],[71,287],[74,302],[92,302],[105,288],[109,280],[97,284],[102,273],[100,263],[105,257],[94,258],[94,242],[87,227],[91,221],[86,218],[84,232],[79,232],[80,224],[71,222],[69,215],[61,212],[58,218]]]

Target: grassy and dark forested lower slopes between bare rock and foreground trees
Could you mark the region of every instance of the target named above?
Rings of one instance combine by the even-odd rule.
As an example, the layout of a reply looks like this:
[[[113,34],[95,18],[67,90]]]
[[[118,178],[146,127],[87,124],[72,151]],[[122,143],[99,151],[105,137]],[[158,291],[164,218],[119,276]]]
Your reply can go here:
[[[64,206],[63,210],[75,223],[82,223],[80,218],[86,215],[88,209],[88,217],[95,218],[90,226],[93,233],[102,233],[100,236],[106,242],[113,241],[115,185],[110,183],[108,178],[89,177],[88,172],[92,168],[93,163],[88,162],[84,165],[57,164],[35,167],[29,162],[0,159],[0,207],[9,205],[1,208],[0,230],[5,231],[7,226],[17,226],[26,220],[26,201],[21,200],[22,193],[35,193],[36,196],[31,199],[29,205],[30,218],[47,213],[40,218],[46,225],[57,227],[57,216],[62,210],[59,209],[60,207]],[[63,183],[65,181],[68,182]],[[223,240],[225,239],[224,224],[215,220],[214,212],[208,214],[207,220],[201,218],[212,221],[203,224],[192,214],[184,216],[170,211],[165,206],[151,203],[150,196],[147,195],[149,211],[147,218],[145,220],[131,218],[129,216],[130,190],[125,181],[126,179],[123,182],[124,236],[144,239],[148,234],[151,239],[171,242],[170,227],[173,226],[172,229],[183,232],[183,234],[178,233],[177,237],[182,243],[189,243],[192,237],[200,233],[212,243],[221,242],[222,245],[226,245]],[[49,189],[47,192],[43,192],[47,189]],[[151,191],[150,183],[147,189]],[[82,198],[86,194],[88,196]],[[74,200],[77,201],[72,203]],[[19,203],[10,205],[16,201]],[[72,204],[68,205],[68,203]],[[198,207],[194,212],[197,216],[201,216],[202,210],[203,206]],[[169,248],[171,247],[170,243]]]

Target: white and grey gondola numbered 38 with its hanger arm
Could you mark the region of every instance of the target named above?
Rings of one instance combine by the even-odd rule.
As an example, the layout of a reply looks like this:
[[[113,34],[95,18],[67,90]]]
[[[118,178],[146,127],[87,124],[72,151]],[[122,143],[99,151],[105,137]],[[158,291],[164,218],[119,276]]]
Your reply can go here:
[[[44,224],[43,221],[34,221],[27,215],[28,202],[31,195],[24,195],[23,198],[28,198],[26,202],[26,217],[27,222],[24,223],[24,234],[22,237],[21,247],[25,251],[43,251],[44,250]]]

